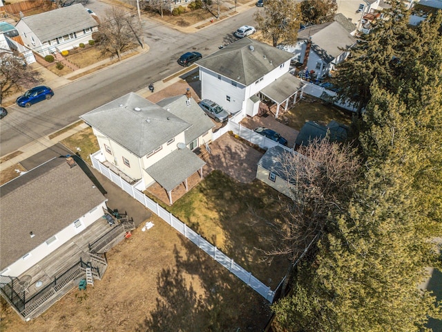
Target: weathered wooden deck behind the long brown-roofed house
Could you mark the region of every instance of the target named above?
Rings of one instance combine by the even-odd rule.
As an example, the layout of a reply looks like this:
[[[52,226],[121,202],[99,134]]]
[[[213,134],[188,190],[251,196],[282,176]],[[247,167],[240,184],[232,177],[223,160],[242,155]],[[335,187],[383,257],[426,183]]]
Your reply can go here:
[[[106,219],[98,219],[90,225],[86,230],[77,234],[73,239],[64,243],[63,246],[52,252],[48,257],[45,257],[38,264],[26,270],[22,275],[29,275],[32,277],[28,292],[25,293],[26,298],[30,298],[35,293],[38,293],[44,286],[50,284],[55,277],[64,273],[65,270],[77,264],[81,259],[86,263],[89,259],[88,244],[93,243],[99,237],[102,237],[106,232],[111,230]],[[37,287],[36,283],[41,282],[41,286]]]

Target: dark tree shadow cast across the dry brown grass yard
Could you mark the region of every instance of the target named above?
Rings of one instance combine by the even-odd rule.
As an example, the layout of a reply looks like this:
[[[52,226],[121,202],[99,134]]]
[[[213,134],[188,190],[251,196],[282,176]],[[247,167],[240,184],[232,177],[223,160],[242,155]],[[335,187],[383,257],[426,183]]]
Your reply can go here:
[[[269,303],[191,241],[180,240],[175,267],[157,276],[155,310],[136,331],[262,331]]]

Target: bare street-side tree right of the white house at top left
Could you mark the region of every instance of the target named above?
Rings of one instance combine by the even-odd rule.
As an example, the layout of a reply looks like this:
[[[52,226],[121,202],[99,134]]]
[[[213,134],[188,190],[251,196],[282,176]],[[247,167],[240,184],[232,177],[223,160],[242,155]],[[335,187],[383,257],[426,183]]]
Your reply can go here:
[[[111,53],[121,59],[122,53],[142,45],[141,31],[135,15],[121,8],[112,7],[105,12],[103,24],[97,32],[98,47],[102,53]]]

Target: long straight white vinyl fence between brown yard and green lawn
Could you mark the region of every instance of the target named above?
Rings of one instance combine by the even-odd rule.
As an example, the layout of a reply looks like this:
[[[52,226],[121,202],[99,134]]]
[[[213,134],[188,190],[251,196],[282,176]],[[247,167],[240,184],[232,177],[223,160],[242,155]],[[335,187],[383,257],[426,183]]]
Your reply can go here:
[[[228,126],[226,126],[228,127]],[[244,128],[244,127],[243,127]],[[229,130],[229,129],[228,129]],[[227,130],[227,131],[228,131]],[[258,136],[261,136],[257,134]],[[215,138],[213,138],[215,139]],[[100,173],[102,173],[106,178],[111,180],[113,183],[118,185],[122,190],[133,196],[134,199],[142,203],[146,208],[151,210],[153,213],[160,216],[161,219],[169,223],[175,230],[180,232],[184,237],[191,240],[195,243],[198,248],[204,250],[207,255],[218,261],[224,268],[227,268],[231,273],[240,278],[247,286],[250,286],[254,291],[259,293],[262,297],[267,299],[270,303],[273,302],[273,298],[275,297],[275,291],[271,291],[269,286],[266,286],[256,277],[244,270],[241,266],[239,266],[233,259],[224,255],[218,248],[213,246],[209,241],[206,241],[200,234],[194,232],[191,228],[187,227],[185,223],[177,219],[177,217],[173,216],[170,212],[167,212],[164,208],[162,208],[158,203],[155,203],[151,199],[149,199],[146,195],[144,195],[140,190],[136,189],[137,184],[130,185],[124,179],[112,172],[99,160],[103,160],[101,151],[95,152],[95,154],[90,155],[90,160],[92,160],[93,167],[97,169]]]

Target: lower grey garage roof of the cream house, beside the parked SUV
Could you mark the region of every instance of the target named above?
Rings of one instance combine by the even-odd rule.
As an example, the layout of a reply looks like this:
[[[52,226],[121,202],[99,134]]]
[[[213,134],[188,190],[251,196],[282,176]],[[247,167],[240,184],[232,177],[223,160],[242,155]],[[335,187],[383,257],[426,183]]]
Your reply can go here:
[[[178,95],[163,99],[157,102],[157,105],[191,124],[191,127],[184,131],[185,143],[188,145],[203,133],[215,127],[215,124],[213,124],[209,116],[206,116],[206,113],[202,111],[193,98],[190,99],[189,106],[187,106],[186,100],[186,95]]]

